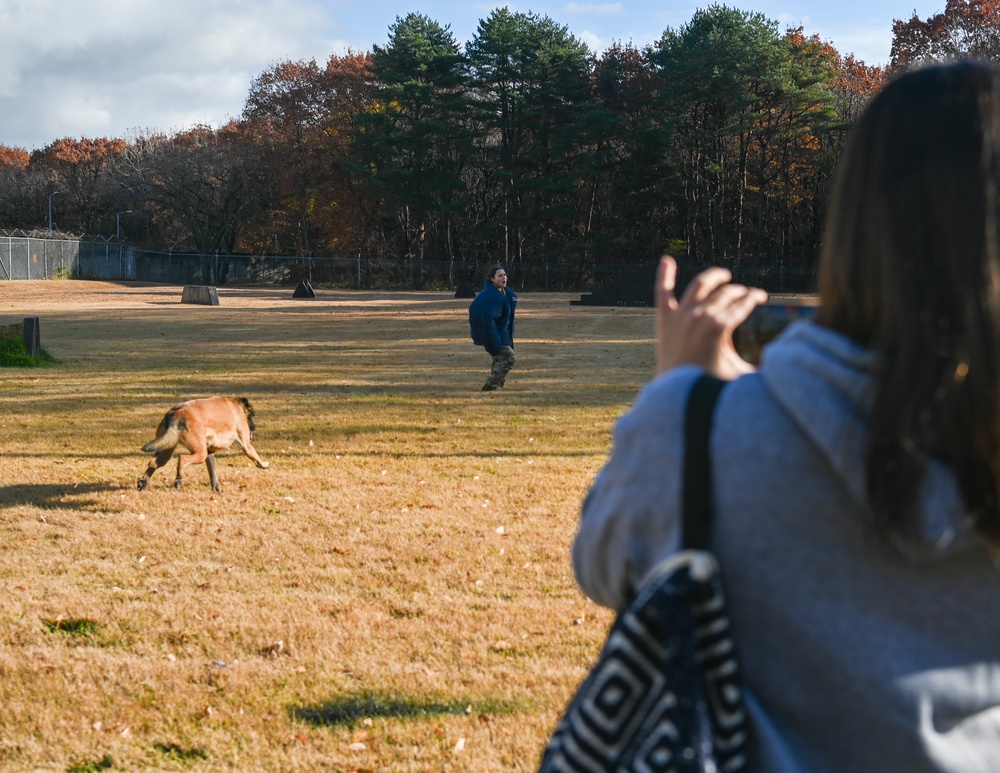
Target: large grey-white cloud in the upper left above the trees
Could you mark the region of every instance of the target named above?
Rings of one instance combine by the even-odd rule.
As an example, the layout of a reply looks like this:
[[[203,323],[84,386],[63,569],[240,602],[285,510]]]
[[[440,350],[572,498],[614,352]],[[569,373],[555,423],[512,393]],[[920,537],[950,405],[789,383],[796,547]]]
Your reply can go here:
[[[274,62],[335,45],[323,0],[0,0],[0,144],[220,125]]]

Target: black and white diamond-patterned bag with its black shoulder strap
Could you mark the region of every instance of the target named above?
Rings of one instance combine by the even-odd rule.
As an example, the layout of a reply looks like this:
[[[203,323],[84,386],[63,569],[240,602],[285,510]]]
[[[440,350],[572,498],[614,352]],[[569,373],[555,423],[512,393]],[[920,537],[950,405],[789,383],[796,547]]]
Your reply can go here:
[[[711,528],[708,438],[724,385],[688,398],[685,549],[660,562],[619,614],[597,665],[557,726],[540,773],[720,771],[746,767],[747,716]]]

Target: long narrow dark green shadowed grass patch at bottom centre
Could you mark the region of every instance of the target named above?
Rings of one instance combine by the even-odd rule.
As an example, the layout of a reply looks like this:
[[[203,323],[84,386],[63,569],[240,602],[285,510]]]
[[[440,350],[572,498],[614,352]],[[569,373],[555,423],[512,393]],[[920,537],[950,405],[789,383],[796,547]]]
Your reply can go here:
[[[319,706],[296,706],[292,719],[316,727],[353,727],[364,719],[429,719],[463,714],[513,714],[518,707],[501,701],[435,700],[434,698],[364,692],[342,695]]]

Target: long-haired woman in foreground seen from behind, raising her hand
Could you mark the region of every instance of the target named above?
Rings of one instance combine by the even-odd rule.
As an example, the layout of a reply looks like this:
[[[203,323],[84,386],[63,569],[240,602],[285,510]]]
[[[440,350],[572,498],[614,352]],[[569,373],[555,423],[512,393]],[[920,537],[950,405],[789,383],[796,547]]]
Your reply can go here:
[[[764,295],[722,269],[657,285],[659,373],[584,503],[577,578],[620,609],[679,546],[682,427],[711,437],[711,548],[762,771],[1000,769],[1000,70],[904,74],[837,170],[820,309],[759,369]]]

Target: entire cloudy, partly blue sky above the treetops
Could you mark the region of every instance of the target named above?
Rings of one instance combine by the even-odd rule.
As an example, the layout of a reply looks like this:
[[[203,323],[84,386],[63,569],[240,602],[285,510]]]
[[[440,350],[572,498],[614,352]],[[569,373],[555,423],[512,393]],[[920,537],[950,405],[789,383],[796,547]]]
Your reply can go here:
[[[945,0],[719,0],[803,26],[869,64],[889,58],[892,20]],[[460,43],[507,5],[547,15],[601,52],[638,46],[709,2],[686,0],[0,0],[0,145],[33,150],[62,137],[128,137],[219,126],[238,117],[250,82],[282,60],[384,43],[411,11],[450,25]]]

